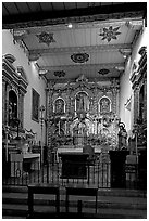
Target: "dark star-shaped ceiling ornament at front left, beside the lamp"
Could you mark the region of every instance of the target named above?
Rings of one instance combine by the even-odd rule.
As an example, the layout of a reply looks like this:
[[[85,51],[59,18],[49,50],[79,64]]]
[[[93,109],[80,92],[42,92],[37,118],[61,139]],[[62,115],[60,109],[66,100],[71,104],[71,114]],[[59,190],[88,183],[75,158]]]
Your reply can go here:
[[[36,35],[39,39],[39,43],[46,43],[48,47],[50,43],[55,42],[52,32],[42,31],[40,35]]]

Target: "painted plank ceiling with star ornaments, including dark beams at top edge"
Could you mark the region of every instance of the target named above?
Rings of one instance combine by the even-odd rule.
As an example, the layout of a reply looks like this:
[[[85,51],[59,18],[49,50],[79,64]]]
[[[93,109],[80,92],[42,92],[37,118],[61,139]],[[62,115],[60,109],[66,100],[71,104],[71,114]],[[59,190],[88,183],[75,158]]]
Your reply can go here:
[[[3,2],[2,16],[3,29],[11,29],[14,42],[22,43],[47,79],[82,74],[107,79],[124,72],[145,25],[146,4]]]

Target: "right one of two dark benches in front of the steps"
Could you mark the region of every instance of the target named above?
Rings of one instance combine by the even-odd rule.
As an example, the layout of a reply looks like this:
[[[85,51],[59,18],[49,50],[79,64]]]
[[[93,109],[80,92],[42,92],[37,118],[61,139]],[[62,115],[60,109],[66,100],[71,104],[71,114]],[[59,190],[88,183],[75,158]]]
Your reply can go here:
[[[65,200],[65,208],[66,212],[69,212],[69,196],[70,195],[77,195],[77,196],[95,196],[96,197],[96,213],[97,213],[97,198],[98,198],[98,187],[90,187],[90,186],[66,186],[66,200]],[[78,200],[78,213],[82,213],[82,200]]]

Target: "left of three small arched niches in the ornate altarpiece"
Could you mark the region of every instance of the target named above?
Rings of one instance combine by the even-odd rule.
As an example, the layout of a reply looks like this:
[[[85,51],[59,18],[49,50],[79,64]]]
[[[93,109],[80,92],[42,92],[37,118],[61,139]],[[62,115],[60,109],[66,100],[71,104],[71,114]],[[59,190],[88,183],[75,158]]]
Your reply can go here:
[[[65,113],[65,101],[62,98],[58,98],[54,100],[53,112],[55,114],[64,114]]]

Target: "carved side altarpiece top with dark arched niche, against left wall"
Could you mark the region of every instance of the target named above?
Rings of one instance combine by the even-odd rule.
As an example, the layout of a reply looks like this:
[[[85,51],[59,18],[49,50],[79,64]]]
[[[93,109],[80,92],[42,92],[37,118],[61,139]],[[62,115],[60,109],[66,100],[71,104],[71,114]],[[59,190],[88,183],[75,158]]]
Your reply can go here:
[[[2,123],[3,126],[9,123],[12,108],[12,117],[20,120],[20,128],[23,129],[24,96],[27,92],[28,81],[24,68],[22,66],[14,67],[15,60],[12,54],[2,56]],[[11,103],[17,105],[11,107],[10,100]]]

